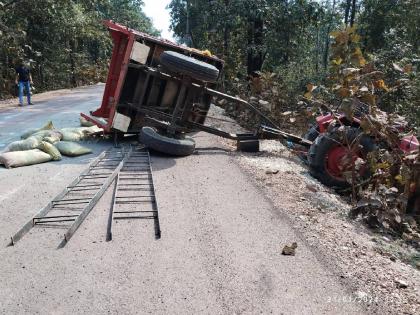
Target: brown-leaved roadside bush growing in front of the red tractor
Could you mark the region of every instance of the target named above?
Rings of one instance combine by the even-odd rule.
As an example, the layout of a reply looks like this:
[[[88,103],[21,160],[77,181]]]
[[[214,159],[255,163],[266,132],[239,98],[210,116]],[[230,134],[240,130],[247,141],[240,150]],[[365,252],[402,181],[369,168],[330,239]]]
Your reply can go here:
[[[355,27],[335,31],[332,37],[330,80],[326,89],[330,97],[327,101],[319,97],[317,88],[310,84],[305,98],[315,106],[329,108],[335,117],[335,122],[330,124],[331,128],[335,126],[335,133],[339,134],[340,129],[344,128],[340,126],[339,119],[344,114],[349,121],[357,117],[363,134],[375,139],[377,149],[374,152],[363,159],[355,159],[349,164],[348,171],[343,170],[343,174],[347,173],[347,182],[352,184],[353,200],[358,202],[352,215],[362,215],[377,227],[404,234],[409,220],[413,220],[406,216],[406,209],[407,200],[420,179],[419,155],[418,151],[407,153],[399,149],[401,139],[407,136],[413,138],[413,132],[404,117],[381,111],[380,108],[393,104],[389,99],[399,100],[397,103],[401,105],[404,104],[401,103],[404,95],[406,99],[413,96],[407,91],[414,88],[410,77],[416,79],[416,67],[405,60],[404,65],[394,63],[391,66],[393,70],[389,70],[378,56],[376,62],[367,63],[359,47],[361,38]],[[375,63],[382,67],[381,71],[375,67]],[[386,77],[394,82],[387,81]],[[334,103],[339,107],[334,108]],[[413,118],[412,113],[410,116]],[[356,139],[350,144],[346,140],[341,145],[358,147],[360,142]],[[372,171],[372,178],[368,182],[357,172],[360,167],[368,167]]]

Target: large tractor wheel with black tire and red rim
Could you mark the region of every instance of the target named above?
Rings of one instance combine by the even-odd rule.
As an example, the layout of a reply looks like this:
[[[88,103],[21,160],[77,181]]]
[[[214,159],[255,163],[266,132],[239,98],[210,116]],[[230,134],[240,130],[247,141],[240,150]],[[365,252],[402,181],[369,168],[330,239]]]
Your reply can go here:
[[[343,139],[347,139],[347,141],[343,142]],[[360,158],[365,159],[369,152],[376,150],[374,140],[367,135],[361,135],[361,131],[357,128],[345,127],[344,131],[333,130],[318,135],[308,153],[311,175],[328,187],[337,189],[350,187],[350,183],[346,181],[345,177],[337,173],[338,166],[336,167],[335,161],[340,159],[340,154],[346,153],[346,143],[356,142],[355,140],[359,141],[360,146],[355,148],[357,152],[354,154]],[[369,166],[366,165],[359,175],[363,179],[368,179],[371,176]]]

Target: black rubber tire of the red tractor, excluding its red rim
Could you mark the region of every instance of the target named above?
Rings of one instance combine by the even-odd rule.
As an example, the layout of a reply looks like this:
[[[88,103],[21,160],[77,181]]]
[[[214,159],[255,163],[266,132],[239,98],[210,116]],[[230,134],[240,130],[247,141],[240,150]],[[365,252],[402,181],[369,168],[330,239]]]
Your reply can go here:
[[[351,143],[357,137],[360,137],[360,154],[366,157],[369,152],[376,150],[376,144],[374,140],[367,135],[360,135],[361,131],[357,128],[345,127],[345,136]],[[334,176],[329,171],[328,158],[331,157],[331,152],[334,148],[340,147],[339,143],[342,142],[342,135],[339,132],[332,131],[329,133],[320,134],[311,145],[308,153],[308,164],[309,172],[313,177],[318,179],[321,183],[328,187],[337,189],[345,189],[350,187],[344,178]],[[364,170],[361,174],[363,179],[367,179],[371,176],[369,167]]]

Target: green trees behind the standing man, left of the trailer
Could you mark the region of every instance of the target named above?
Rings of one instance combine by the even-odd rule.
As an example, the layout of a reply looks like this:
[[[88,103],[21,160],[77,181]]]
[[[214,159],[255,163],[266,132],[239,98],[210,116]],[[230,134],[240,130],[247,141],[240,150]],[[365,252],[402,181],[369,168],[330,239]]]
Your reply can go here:
[[[0,10],[0,97],[23,60],[38,91],[104,81],[112,42],[103,19],[157,34],[138,0],[18,0]]]

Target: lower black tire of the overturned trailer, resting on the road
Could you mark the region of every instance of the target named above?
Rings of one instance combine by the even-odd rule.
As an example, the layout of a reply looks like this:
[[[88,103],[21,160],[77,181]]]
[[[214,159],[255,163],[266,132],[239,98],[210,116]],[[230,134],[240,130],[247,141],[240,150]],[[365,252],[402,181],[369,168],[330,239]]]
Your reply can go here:
[[[191,137],[175,139],[163,136],[154,128],[143,127],[140,131],[140,142],[148,148],[168,155],[187,156],[193,154],[195,141]]]

